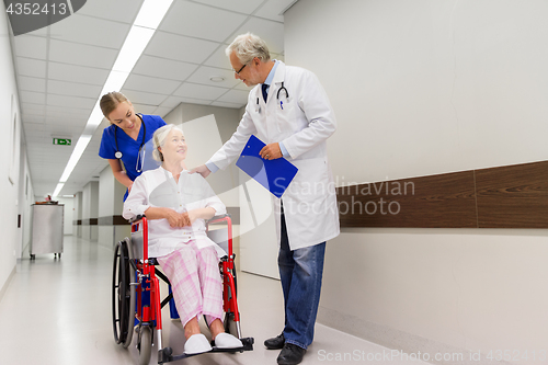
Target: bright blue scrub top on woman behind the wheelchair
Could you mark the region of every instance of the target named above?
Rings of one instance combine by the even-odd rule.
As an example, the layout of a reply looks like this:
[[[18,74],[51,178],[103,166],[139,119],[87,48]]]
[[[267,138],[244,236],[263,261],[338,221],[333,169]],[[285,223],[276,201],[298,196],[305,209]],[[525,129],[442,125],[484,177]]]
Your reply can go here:
[[[142,123],[145,123],[147,135],[145,136],[145,144],[152,138],[156,129],[165,125],[165,122],[159,115],[146,115],[140,114]],[[126,170],[127,176],[135,181],[140,172],[135,169],[137,163],[137,156],[139,153],[139,146],[142,142],[142,134],[145,128],[140,128],[139,136],[137,140],[129,137],[124,129],[111,125],[103,129],[103,137],[101,138],[101,147],[99,148],[99,156],[109,159],[116,160],[116,141],[114,139],[114,129],[117,128],[116,137],[118,139],[118,148],[122,152],[122,162],[124,162],[124,168]],[[147,151],[148,153],[148,151]],[[127,197],[127,191],[124,195],[124,202]]]

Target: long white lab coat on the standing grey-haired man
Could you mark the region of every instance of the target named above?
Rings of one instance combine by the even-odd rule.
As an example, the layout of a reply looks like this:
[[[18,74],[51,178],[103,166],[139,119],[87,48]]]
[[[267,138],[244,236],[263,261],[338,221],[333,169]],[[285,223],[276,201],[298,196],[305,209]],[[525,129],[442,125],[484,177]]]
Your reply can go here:
[[[284,82],[285,91],[277,92]],[[283,103],[283,109],[281,102]],[[318,78],[299,67],[279,62],[264,103],[261,84],[253,88],[242,119],[208,162],[225,169],[240,153],[250,135],[265,144],[282,141],[288,160],[299,170],[282,195],[292,250],[330,240],[340,233],[333,175],[326,140],[336,128],[333,110]],[[279,199],[273,197],[279,243]]]

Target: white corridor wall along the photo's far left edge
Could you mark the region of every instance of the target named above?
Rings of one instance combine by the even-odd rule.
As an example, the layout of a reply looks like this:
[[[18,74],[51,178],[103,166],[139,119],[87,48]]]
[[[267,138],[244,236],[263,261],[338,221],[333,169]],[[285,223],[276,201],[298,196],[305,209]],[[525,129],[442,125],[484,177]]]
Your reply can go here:
[[[19,169],[21,145],[21,113],[13,68],[12,49],[9,37],[9,24],[3,3],[0,5],[0,121],[3,133],[0,135],[0,191],[2,192],[2,209],[0,209],[0,297],[15,269],[15,258],[23,237],[18,229],[19,204]],[[32,195],[31,195],[32,196]]]

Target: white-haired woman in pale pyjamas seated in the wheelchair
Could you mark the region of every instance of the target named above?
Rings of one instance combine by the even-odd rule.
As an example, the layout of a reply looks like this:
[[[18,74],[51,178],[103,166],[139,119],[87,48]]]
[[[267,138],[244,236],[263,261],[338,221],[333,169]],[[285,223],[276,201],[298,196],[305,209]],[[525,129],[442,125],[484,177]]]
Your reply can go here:
[[[176,309],[184,326],[184,352],[212,350],[201,333],[198,316],[204,315],[215,345],[241,347],[240,340],[225,333],[222,283],[216,244],[206,236],[205,220],[225,214],[226,207],[199,174],[190,174],[184,160],[183,132],[167,125],[153,135],[156,170],[138,176],[124,203],[123,216],[145,214],[149,220],[149,256],[157,258],[171,282]]]

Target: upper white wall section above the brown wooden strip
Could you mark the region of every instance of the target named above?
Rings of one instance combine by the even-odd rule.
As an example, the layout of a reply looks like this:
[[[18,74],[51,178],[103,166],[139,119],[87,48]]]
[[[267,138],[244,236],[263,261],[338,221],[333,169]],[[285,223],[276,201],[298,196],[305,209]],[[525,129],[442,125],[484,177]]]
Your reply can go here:
[[[285,57],[318,75],[335,109],[335,175],[372,182],[548,159],[548,2],[294,8]],[[347,169],[352,157],[364,168]]]

